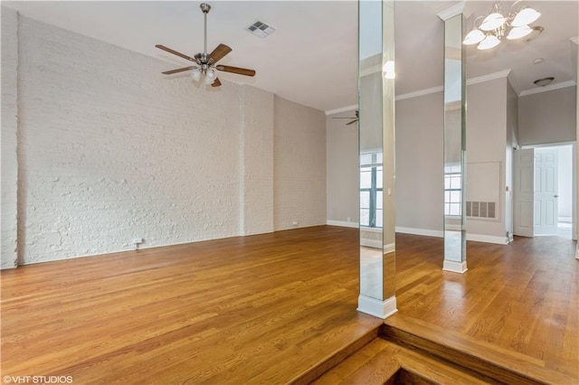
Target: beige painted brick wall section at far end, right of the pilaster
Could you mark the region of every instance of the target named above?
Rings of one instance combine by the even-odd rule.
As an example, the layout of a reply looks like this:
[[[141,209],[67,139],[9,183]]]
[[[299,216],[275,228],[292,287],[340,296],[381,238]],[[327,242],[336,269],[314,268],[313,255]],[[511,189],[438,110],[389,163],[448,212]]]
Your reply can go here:
[[[326,115],[274,99],[274,227],[326,224]]]

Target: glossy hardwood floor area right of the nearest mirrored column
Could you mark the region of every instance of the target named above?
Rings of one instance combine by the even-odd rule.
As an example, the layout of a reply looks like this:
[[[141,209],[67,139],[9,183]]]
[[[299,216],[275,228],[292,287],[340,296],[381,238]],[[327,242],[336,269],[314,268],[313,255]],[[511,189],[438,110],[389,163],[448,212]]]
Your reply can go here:
[[[398,313],[385,324],[547,383],[579,383],[575,242],[468,242],[469,270],[442,271],[442,240],[396,238]]]

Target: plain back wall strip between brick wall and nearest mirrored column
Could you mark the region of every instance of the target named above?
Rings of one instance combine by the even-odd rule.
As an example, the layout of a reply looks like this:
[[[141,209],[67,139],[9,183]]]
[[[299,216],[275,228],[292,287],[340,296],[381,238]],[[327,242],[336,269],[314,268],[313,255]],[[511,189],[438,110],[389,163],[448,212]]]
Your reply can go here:
[[[346,126],[356,111],[330,115],[326,119],[327,222],[351,226],[359,223],[358,127]],[[348,221],[349,218],[349,221]]]

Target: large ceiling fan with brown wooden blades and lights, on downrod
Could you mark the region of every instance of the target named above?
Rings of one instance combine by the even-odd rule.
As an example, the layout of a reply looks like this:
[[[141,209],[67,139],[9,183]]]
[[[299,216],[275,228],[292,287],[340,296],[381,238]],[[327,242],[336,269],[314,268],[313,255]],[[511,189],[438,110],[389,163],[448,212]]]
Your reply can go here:
[[[181,52],[176,52],[175,50],[172,50],[165,45],[157,44],[156,47],[160,50],[173,53],[174,55],[180,56],[185,60],[195,62],[195,65],[193,66],[178,68],[176,70],[166,70],[162,73],[165,75],[172,75],[174,73],[183,72],[185,70],[193,70],[193,78],[195,80],[201,80],[203,76],[204,83],[211,84],[212,87],[221,86],[221,81],[219,81],[219,78],[217,78],[215,70],[222,70],[223,72],[232,72],[245,76],[255,76],[255,70],[216,64],[217,61],[222,60],[225,55],[227,55],[229,52],[232,52],[232,49],[225,44],[219,44],[213,52],[207,54],[207,14],[211,9],[211,5],[202,3],[200,7],[204,14],[204,51],[195,54],[195,57],[192,58]]]

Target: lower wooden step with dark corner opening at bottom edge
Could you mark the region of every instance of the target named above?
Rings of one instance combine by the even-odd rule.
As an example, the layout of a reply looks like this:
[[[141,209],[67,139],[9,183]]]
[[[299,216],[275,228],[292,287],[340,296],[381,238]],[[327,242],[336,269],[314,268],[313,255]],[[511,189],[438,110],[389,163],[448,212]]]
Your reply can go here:
[[[382,338],[366,344],[313,382],[316,385],[489,383],[493,381]]]

